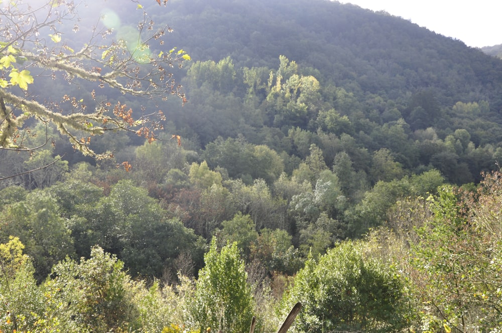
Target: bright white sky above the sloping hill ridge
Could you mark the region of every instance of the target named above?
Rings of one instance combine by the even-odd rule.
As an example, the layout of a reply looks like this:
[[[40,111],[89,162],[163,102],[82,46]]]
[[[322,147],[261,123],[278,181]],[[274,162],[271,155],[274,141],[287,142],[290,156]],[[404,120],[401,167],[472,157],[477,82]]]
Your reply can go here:
[[[500,0],[339,0],[372,11],[386,11],[467,46],[502,44]]]

